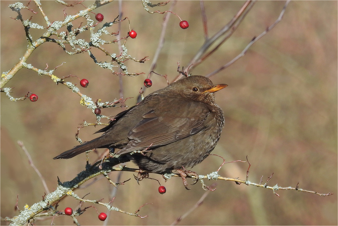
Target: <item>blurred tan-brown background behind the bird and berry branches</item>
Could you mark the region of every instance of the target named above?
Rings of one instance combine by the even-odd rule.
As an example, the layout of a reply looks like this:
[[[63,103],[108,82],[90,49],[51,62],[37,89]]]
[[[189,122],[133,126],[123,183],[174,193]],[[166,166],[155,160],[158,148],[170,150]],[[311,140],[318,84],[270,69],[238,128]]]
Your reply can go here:
[[[16,1],[0,1],[1,4],[1,72],[10,70],[25,52],[27,41],[22,23],[10,17],[17,14],[8,8]],[[28,1],[21,1],[24,5]],[[94,1],[84,1],[89,6]],[[64,20],[63,10],[68,15],[84,9],[80,4],[66,7],[54,1],[41,1],[49,21]],[[69,3],[74,3],[69,1]],[[158,3],[152,2],[153,4]],[[104,15],[103,22],[113,21],[118,16],[118,1],[94,10]],[[168,10],[173,2],[164,7],[151,8]],[[238,12],[244,1],[205,1],[209,36],[214,35]],[[191,71],[206,75],[236,57],[254,36],[278,18],[284,1],[258,1],[246,18],[211,57]],[[33,2],[30,7],[38,12]],[[128,54],[137,59],[149,56],[144,64],[131,60],[126,62],[129,72],[145,72],[137,77],[123,76],[123,98],[129,107],[136,104],[143,81],[158,46],[164,15],[147,13],[141,1],[122,1],[123,18],[128,17],[130,28],[137,31],[136,39],[128,39]],[[33,14],[21,10],[24,19]],[[188,29],[179,27],[180,20],[170,16],[165,42],[156,73],[167,74],[171,82],[178,75],[177,62],[181,66],[189,63],[204,42],[199,1],[178,1],[173,12],[189,22]],[[95,21],[95,15],[90,13]],[[41,14],[33,15],[32,22],[43,26]],[[74,27],[85,22],[80,18]],[[99,24],[98,27],[101,27]],[[97,29],[97,28],[96,28]],[[108,29],[117,32],[118,25]],[[30,29],[33,40],[42,30]],[[122,37],[127,35],[127,20],[121,23]],[[89,32],[81,34],[88,40]],[[106,40],[111,37],[106,36]],[[117,44],[105,46],[118,53]],[[69,49],[70,50],[70,49]],[[110,61],[109,57],[93,50],[98,61]],[[100,55],[101,54],[101,55]],[[76,77],[66,81],[77,83],[80,91],[95,99],[113,101],[119,98],[119,76],[97,66],[87,53],[66,54],[55,43],[44,43],[37,48],[27,63],[39,69],[58,67],[58,77],[76,75],[89,80],[89,86],[82,88]],[[159,75],[152,75],[152,87],[145,95],[165,87],[166,81]],[[216,103],[225,114],[225,128],[212,154],[223,156],[226,161],[243,160],[248,155],[251,163],[249,180],[263,183],[274,172],[269,185],[299,187],[318,193],[334,193],[320,197],[290,190],[279,190],[277,197],[271,190],[255,186],[237,185],[230,181],[216,181],[217,189],[207,196],[202,205],[195,209],[179,225],[337,225],[337,1],[291,1],[283,20],[261,40],[250,47],[244,57],[230,67],[211,77],[214,84],[225,83],[228,87],[217,92]],[[39,96],[37,102],[29,99],[10,101],[1,93],[1,217],[14,217],[17,195],[18,206],[24,209],[42,199],[45,189],[38,175],[29,165],[27,156],[17,144],[21,140],[30,153],[35,166],[46,180],[50,191],[61,181],[73,179],[84,170],[85,155],[67,160],[52,158],[77,145],[74,134],[83,120],[96,121],[90,109],[79,104],[80,97],[63,85],[56,85],[47,76],[21,69],[6,85],[15,87],[14,97],[22,97],[28,91]],[[103,115],[114,116],[126,108],[104,108]],[[102,122],[108,122],[102,120]],[[83,141],[91,140],[93,133],[102,127],[86,127],[80,130]],[[102,150],[103,151],[103,150]],[[90,154],[91,161],[97,157]],[[209,156],[193,171],[206,175],[216,171],[221,158]],[[135,167],[128,163],[129,167]],[[228,163],[219,174],[245,180],[248,164]],[[118,173],[111,173],[113,181]],[[144,219],[120,212],[111,212],[108,225],[168,225],[188,211],[206,192],[200,183],[186,190],[182,179],[171,178],[166,183],[160,175],[150,175],[166,186],[167,193],[158,193],[158,182],[143,180],[140,185],[133,174],[123,172],[121,180],[127,180],[116,193],[113,206],[127,212],[148,215]],[[188,179],[189,182],[191,181]],[[205,181],[211,185],[215,181]],[[89,184],[90,182],[87,182]],[[86,185],[86,184],[84,184]],[[106,179],[75,193],[87,199],[104,198],[109,202],[113,186]],[[67,197],[59,203],[59,210],[65,207],[76,209],[78,201]],[[85,203],[82,207],[90,206]],[[95,205],[98,212],[106,208]],[[82,225],[98,225],[94,208],[89,208],[77,217]],[[36,225],[50,225],[51,218],[35,221]],[[71,217],[58,216],[56,225],[72,224]],[[2,225],[7,223],[1,222]]]

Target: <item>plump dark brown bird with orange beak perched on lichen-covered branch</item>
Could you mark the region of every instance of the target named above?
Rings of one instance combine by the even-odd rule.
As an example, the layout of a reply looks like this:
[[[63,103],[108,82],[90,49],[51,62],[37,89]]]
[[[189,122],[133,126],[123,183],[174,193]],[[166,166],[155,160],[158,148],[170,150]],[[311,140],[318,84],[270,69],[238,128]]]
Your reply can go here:
[[[214,92],[227,87],[213,85],[199,75],[185,77],[146,96],[138,105],[119,113],[96,133],[98,138],[75,146],[54,159],[69,159],[95,148],[121,149],[142,171],[165,173],[176,170],[187,188],[186,177],[198,175],[187,167],[203,161],[215,148],[222,128],[222,109]],[[140,151],[145,150],[140,153]],[[197,181],[196,180],[196,181]]]

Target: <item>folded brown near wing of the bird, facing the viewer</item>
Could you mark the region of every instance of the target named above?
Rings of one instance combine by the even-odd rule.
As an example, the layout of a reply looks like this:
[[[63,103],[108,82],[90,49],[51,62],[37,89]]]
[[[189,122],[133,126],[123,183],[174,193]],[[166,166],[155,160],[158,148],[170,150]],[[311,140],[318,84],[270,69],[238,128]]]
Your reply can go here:
[[[204,121],[210,115],[205,104],[187,101],[177,104],[177,109],[151,110],[142,115],[142,120],[128,133],[129,143],[117,154],[141,151],[175,142],[196,134],[205,128]]]

